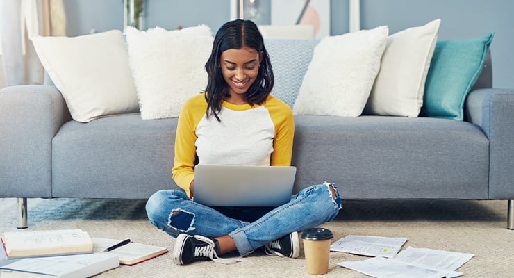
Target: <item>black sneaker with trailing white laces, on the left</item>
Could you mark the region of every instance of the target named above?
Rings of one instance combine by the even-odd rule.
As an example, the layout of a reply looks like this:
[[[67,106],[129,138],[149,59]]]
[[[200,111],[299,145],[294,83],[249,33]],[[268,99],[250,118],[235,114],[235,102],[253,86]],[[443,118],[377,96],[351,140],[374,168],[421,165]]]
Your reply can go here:
[[[187,265],[194,261],[212,260],[217,263],[236,263],[237,259],[222,259],[217,256],[217,240],[205,236],[179,234],[173,247],[173,261],[177,265]]]

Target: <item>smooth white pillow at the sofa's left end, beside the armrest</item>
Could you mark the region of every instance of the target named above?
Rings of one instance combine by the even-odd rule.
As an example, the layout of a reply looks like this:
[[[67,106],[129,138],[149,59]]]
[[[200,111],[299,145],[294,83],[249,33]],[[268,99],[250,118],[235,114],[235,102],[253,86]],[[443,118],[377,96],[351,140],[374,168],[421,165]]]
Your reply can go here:
[[[35,51],[78,122],[138,111],[122,32],[74,38],[32,35]]]

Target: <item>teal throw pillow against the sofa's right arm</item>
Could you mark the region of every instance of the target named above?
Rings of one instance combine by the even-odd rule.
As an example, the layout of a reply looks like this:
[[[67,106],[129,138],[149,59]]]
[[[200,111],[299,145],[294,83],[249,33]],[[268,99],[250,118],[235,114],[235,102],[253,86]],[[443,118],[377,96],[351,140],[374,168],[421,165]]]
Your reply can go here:
[[[464,101],[482,71],[493,35],[437,42],[426,76],[421,115],[463,120]]]

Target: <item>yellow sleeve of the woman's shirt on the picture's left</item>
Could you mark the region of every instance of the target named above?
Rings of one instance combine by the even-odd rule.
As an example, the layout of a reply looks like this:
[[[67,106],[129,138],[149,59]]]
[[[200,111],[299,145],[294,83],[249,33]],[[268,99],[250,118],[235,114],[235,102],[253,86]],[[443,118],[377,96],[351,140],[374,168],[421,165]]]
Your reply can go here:
[[[183,105],[176,126],[173,180],[190,197],[189,186],[194,180],[194,162],[197,154],[194,145],[197,140],[196,129],[206,109],[204,94],[192,97]]]

